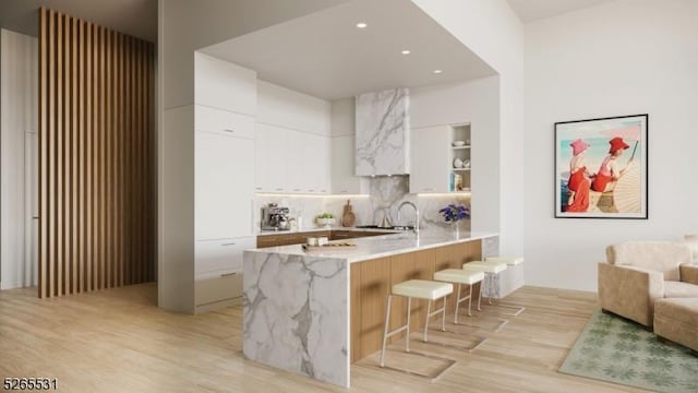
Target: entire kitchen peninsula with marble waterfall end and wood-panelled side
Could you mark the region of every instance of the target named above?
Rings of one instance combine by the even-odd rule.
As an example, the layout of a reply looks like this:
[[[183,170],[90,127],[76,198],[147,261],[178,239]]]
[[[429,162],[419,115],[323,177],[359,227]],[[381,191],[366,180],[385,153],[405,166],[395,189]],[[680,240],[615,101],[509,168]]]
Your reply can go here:
[[[349,386],[350,365],[380,349],[390,286],[496,254],[496,234],[401,233],[244,251],[243,353],[248,359]],[[402,299],[395,310],[404,309]],[[454,305],[448,299],[449,309]],[[425,303],[412,311],[423,325]],[[397,312],[392,324],[404,321]]]

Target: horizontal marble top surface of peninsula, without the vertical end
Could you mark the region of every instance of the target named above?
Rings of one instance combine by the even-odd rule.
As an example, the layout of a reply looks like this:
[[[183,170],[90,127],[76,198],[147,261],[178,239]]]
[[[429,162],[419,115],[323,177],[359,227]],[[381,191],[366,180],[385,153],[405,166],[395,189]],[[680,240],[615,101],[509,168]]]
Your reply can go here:
[[[318,229],[321,230],[321,229]],[[324,229],[326,230],[326,229]],[[347,228],[342,229],[347,230]],[[371,230],[371,229],[356,229]],[[374,229],[375,230],[375,229]],[[380,229],[380,231],[387,231]],[[278,234],[278,233],[277,233]],[[323,251],[305,251],[302,245],[267,247],[262,249],[248,250],[250,252],[261,253],[279,253],[287,255],[308,255],[322,257],[332,259],[345,259],[349,263],[360,262],[375,258],[390,257],[405,252],[412,252],[435,247],[454,245],[461,241],[470,241],[483,239],[486,237],[497,236],[494,233],[460,233],[458,237],[450,231],[444,230],[422,230],[419,235],[413,231],[394,230],[389,235],[372,236],[365,238],[353,238],[345,240],[334,240],[330,243],[351,243],[353,247],[344,247],[340,249],[327,248],[327,252]]]

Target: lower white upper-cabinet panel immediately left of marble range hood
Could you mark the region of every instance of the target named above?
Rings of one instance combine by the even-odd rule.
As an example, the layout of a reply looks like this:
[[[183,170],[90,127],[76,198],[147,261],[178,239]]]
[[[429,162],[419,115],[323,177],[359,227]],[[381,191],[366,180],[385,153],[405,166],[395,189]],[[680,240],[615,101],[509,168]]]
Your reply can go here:
[[[369,180],[354,176],[354,136],[333,136],[332,152],[332,192],[336,194],[366,194]]]

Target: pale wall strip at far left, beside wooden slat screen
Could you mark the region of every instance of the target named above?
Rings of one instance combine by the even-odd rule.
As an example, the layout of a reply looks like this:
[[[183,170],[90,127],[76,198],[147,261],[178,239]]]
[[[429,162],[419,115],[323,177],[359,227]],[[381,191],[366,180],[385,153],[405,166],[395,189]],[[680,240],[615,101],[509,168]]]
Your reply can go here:
[[[37,56],[36,38],[0,31],[0,289],[37,285],[37,212],[26,189],[37,156],[25,156],[37,141]]]

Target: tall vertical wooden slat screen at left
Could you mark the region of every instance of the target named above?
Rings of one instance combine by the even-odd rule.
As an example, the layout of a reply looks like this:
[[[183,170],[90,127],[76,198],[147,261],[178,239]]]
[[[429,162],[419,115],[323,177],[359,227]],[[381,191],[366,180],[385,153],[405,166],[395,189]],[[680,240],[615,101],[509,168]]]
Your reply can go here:
[[[39,11],[39,297],[155,279],[151,43]]]

